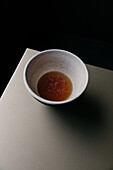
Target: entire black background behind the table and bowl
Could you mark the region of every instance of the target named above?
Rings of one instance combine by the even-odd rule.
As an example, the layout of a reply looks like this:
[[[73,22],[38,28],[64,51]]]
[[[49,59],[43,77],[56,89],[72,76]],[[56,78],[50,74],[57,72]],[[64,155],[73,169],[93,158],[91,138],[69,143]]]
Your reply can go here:
[[[68,50],[85,63],[113,70],[111,2],[2,0],[0,92],[26,48]]]

